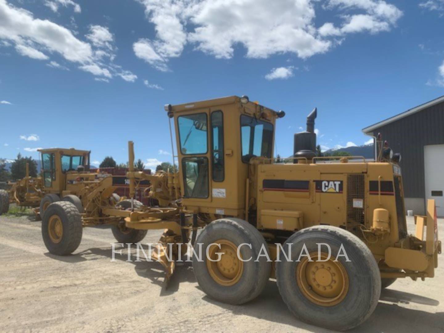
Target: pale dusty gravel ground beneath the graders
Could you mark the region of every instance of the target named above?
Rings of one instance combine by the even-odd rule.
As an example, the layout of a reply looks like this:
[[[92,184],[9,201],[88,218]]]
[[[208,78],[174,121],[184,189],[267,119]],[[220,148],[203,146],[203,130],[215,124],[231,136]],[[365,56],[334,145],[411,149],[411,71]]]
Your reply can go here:
[[[439,225],[443,235],[443,219]],[[412,218],[408,226],[413,232]],[[149,232],[143,242],[160,234]],[[0,216],[0,331],[325,332],[289,313],[275,281],[248,304],[226,305],[206,297],[189,263],[177,267],[166,289],[157,262],[125,262],[126,250],[111,262],[113,242],[108,228],[85,228],[75,254],[57,257],[32,215]],[[443,256],[435,278],[399,279],[384,290],[356,331],[444,332]]]

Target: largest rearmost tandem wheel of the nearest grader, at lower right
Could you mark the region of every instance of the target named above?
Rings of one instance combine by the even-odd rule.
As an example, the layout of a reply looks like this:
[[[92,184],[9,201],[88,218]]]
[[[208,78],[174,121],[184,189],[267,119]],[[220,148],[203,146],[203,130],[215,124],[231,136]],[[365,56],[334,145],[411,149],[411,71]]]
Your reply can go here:
[[[325,245],[327,252],[321,250],[318,258],[318,243],[329,244],[329,260],[318,260],[328,258]],[[283,246],[285,251],[287,244],[292,244],[292,261],[281,254],[276,279],[282,299],[296,317],[342,331],[360,325],[373,313],[381,294],[381,274],[364,242],[338,227],[313,226],[290,236]],[[300,254],[305,254],[304,245],[313,262],[308,257],[297,262]],[[344,252],[350,261],[343,256],[337,258]]]

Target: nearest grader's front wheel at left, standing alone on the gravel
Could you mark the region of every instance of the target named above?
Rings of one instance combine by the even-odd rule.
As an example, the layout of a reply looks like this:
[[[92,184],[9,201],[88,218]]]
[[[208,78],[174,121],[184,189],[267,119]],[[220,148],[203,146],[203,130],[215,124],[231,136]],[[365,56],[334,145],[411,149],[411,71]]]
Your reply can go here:
[[[42,218],[42,237],[49,253],[71,254],[79,247],[82,233],[82,218],[71,202],[59,201],[48,206]]]

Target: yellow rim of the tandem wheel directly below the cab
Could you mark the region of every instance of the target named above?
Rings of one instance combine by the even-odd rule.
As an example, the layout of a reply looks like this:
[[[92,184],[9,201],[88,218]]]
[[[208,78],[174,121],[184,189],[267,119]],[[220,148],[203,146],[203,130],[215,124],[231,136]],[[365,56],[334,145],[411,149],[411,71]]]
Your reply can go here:
[[[244,270],[244,263],[238,258],[238,247],[226,239],[218,239],[214,243],[220,244],[221,247],[219,249],[216,245],[210,246],[208,258],[217,260],[218,253],[221,253],[221,255],[217,262],[212,262],[206,258],[208,273],[219,285],[230,286],[238,283]]]

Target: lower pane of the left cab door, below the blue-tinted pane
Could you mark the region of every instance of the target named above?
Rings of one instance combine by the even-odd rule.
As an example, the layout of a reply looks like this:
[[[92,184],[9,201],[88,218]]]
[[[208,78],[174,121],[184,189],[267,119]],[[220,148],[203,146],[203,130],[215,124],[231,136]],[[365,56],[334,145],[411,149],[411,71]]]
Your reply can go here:
[[[208,198],[208,159],[185,157],[182,170],[185,198]]]

